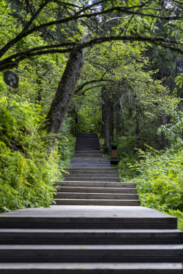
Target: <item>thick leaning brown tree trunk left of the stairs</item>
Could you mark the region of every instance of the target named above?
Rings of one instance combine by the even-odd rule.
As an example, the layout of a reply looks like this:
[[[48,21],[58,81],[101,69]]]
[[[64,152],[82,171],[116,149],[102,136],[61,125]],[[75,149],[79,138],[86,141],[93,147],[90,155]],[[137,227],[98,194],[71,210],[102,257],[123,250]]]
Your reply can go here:
[[[62,79],[58,85],[58,90],[47,113],[45,123],[47,132],[55,134],[55,138],[64,122],[64,117],[75,92],[77,81],[82,73],[83,65],[84,51],[71,51]],[[53,142],[55,138],[53,138]]]

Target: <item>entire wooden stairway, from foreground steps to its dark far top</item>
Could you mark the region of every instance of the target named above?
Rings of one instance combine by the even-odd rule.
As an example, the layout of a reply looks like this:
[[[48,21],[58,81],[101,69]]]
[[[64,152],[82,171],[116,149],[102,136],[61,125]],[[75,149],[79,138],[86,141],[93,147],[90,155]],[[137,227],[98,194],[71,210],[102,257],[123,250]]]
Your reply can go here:
[[[78,134],[56,205],[0,214],[0,274],[182,274],[177,220],[140,206],[95,134]]]

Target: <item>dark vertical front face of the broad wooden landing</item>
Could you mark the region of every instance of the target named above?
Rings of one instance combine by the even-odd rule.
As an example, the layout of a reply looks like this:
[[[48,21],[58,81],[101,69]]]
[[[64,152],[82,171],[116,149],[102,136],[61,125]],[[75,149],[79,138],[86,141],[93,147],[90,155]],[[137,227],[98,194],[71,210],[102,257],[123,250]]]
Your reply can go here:
[[[8,217],[0,218],[1,228],[60,229],[176,229],[176,219],[166,218],[60,218]]]

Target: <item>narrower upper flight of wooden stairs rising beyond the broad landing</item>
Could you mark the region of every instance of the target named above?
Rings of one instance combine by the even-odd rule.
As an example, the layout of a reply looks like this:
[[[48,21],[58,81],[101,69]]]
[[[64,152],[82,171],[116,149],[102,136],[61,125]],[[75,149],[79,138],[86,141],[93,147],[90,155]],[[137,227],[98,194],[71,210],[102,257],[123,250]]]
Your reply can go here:
[[[140,206],[135,184],[120,183],[117,169],[103,158],[97,134],[77,134],[75,158],[59,186],[57,205]]]

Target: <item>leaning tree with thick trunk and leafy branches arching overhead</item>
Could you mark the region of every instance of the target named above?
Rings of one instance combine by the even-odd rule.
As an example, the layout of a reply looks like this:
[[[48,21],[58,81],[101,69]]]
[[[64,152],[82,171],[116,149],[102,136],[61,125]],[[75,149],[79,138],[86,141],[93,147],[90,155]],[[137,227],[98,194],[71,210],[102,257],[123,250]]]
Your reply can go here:
[[[175,30],[180,32],[182,7],[178,1],[171,0],[171,9],[167,6],[162,9],[154,0],[101,0],[88,3],[68,0],[20,0],[19,3],[23,4],[23,12],[16,20],[10,16],[10,5],[5,0],[0,3],[3,25],[16,25],[10,39],[6,30],[3,30],[5,39],[1,39],[0,71],[17,68],[23,60],[38,55],[71,53],[56,97],[47,114],[48,132],[58,134],[60,130],[82,71],[84,48],[112,40],[138,40],[162,45],[178,53],[183,51],[182,42],[179,40],[181,35],[178,39],[176,36],[171,39],[154,36],[155,23],[159,19],[163,19],[169,27],[173,24]],[[176,13],[172,10],[176,10]],[[90,34],[88,41],[82,40],[86,28]],[[28,49],[24,47],[38,34],[45,38],[43,45],[30,45]]]

